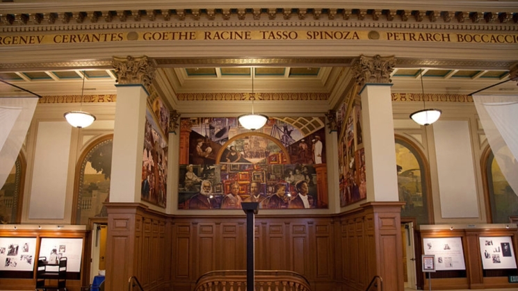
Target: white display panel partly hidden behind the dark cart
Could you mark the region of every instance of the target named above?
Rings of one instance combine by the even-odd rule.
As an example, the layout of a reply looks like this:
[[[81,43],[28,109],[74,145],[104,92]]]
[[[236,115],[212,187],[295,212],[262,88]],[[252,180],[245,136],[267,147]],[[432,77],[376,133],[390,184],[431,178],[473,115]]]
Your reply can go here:
[[[40,257],[47,257],[49,263],[57,263],[56,259],[67,257],[67,272],[81,271],[82,253],[82,238],[42,238],[41,240]]]

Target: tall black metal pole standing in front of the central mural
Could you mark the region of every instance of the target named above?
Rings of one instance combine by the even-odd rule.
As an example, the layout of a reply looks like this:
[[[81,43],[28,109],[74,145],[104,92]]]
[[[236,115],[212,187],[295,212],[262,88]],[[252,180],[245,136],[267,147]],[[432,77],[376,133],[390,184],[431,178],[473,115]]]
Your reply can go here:
[[[254,291],[254,215],[259,210],[259,202],[242,202],[246,213],[246,291]]]

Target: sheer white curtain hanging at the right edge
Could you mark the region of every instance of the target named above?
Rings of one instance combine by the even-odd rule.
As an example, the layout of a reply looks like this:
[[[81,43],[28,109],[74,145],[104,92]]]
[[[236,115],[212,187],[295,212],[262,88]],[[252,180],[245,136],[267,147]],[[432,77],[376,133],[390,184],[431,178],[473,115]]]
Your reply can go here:
[[[518,194],[518,96],[473,95],[473,100],[496,163]],[[504,145],[511,155],[499,151]]]

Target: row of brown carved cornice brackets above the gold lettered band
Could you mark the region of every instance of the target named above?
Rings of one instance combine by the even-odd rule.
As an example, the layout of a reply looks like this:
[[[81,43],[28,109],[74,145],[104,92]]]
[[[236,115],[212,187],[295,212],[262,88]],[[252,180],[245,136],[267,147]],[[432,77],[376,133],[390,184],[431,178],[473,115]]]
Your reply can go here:
[[[518,10],[496,10],[492,12],[476,11],[448,11],[409,8],[391,9],[382,8],[152,8],[142,5],[138,10],[70,10],[54,13],[38,13],[35,10],[13,10],[10,13],[0,14],[1,26],[45,26],[45,25],[81,25],[81,24],[111,24],[132,22],[199,22],[199,21],[238,21],[250,20],[306,20],[315,21],[328,19],[337,21],[375,21],[375,22],[419,22],[419,23],[446,23],[458,22],[459,24],[516,24],[518,22]],[[147,9],[146,9],[147,8]],[[27,9],[27,8],[24,8]],[[79,8],[78,8],[79,9]],[[495,8],[498,9],[498,8]],[[5,9],[4,9],[5,11]]]

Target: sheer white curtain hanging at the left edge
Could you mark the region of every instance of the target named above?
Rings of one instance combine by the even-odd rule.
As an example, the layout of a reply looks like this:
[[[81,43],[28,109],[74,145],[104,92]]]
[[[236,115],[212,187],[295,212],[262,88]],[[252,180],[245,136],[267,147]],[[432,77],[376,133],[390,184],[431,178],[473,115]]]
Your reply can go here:
[[[0,188],[15,165],[36,104],[35,97],[0,98]]]

